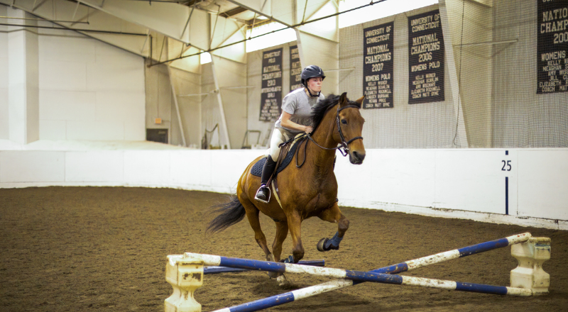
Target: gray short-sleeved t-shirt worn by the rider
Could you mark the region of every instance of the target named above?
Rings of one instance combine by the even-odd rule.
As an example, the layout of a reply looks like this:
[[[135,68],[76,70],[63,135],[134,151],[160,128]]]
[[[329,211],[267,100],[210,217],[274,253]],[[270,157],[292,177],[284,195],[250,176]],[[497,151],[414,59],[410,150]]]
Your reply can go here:
[[[312,126],[312,106],[314,106],[317,101],[325,99],[325,96],[320,93],[320,96],[308,96],[304,88],[295,89],[290,92],[282,100],[282,111],[289,113],[290,121],[297,123],[302,126]],[[293,135],[302,133],[302,131],[297,131],[293,129],[288,129],[283,127],[280,123],[282,121],[282,115],[278,118],[275,123],[276,128],[281,128],[287,130]]]

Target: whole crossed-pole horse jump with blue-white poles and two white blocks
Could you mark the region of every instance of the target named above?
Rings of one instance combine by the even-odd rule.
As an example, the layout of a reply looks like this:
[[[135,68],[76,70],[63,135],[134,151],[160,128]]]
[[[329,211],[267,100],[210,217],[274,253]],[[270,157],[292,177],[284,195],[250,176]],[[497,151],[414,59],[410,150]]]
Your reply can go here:
[[[510,274],[511,286],[491,286],[471,284],[422,277],[405,277],[395,273],[410,271],[430,264],[445,262],[459,257],[475,255],[480,252],[494,250],[511,245],[511,254],[518,260],[518,267]],[[359,272],[345,269],[324,267],[307,267],[304,265],[247,260],[214,255],[200,255],[187,252],[185,255],[169,255],[166,265],[166,280],[172,284],[174,292],[165,300],[165,311],[201,311],[200,303],[193,298],[193,292],[199,288],[202,281],[203,265],[222,265],[240,269],[252,269],[268,272],[314,274],[338,278],[323,284],[297,289],[285,294],[244,303],[219,311],[258,311],[263,308],[278,306],[297,299],[307,298],[327,291],[340,289],[362,282],[379,282],[385,284],[403,284],[437,289],[473,291],[485,294],[501,294],[511,296],[535,296],[547,294],[550,275],[542,270],[542,262],[550,259],[550,238],[532,238],[530,233],[492,240],[486,243],[471,245],[440,252],[435,255],[422,257],[407,262],[401,262],[389,267],[375,269],[370,272]]]

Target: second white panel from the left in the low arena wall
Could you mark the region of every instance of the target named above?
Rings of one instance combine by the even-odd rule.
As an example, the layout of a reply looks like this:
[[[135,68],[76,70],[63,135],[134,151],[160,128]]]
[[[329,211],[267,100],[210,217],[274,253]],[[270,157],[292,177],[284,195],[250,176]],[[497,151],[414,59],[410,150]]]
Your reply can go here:
[[[66,182],[124,181],[123,151],[66,152]]]

